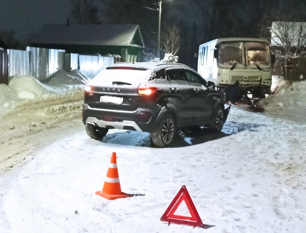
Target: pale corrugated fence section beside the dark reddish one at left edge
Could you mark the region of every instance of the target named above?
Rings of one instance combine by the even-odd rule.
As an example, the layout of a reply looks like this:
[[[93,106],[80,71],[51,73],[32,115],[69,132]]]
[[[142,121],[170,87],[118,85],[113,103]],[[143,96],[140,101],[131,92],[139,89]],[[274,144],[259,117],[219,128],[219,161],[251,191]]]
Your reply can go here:
[[[30,56],[28,51],[8,49],[9,77],[14,75],[28,75],[30,73]]]

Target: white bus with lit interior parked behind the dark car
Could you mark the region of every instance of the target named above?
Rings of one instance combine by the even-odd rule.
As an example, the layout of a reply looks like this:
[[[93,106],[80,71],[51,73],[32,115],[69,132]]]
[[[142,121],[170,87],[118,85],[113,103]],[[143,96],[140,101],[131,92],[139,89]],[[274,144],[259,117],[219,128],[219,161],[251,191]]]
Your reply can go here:
[[[272,84],[272,64],[269,41],[258,38],[222,38],[201,44],[198,73],[224,89],[239,81],[251,92],[260,87],[269,92]]]

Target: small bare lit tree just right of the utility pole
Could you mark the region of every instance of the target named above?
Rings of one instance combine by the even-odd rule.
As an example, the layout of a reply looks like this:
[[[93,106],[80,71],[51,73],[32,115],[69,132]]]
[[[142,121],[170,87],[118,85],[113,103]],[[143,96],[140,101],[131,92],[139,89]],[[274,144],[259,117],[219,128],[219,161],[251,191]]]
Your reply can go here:
[[[180,30],[177,27],[165,28],[162,36],[162,51],[175,56],[180,49]]]

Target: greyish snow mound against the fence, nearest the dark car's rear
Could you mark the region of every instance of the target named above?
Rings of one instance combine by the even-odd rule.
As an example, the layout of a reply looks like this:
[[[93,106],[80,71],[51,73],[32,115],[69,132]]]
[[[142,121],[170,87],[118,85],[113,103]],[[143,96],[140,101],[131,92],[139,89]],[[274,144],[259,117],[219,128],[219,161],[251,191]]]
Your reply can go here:
[[[89,82],[89,78],[79,70],[72,70],[71,72],[58,70],[50,78],[48,85],[54,87],[85,85]]]

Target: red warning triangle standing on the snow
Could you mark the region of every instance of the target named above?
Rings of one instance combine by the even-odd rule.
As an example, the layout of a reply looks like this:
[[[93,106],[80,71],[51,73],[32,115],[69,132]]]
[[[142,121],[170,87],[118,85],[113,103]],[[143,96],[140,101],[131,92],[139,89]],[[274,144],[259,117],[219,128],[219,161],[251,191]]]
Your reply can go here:
[[[174,214],[177,208],[181,205],[182,201],[185,201],[191,217]],[[178,193],[176,194],[173,201],[170,203],[169,207],[166,209],[165,213],[162,215],[160,220],[163,222],[168,222],[169,224],[176,223],[176,224],[190,225],[194,227],[205,226],[202,223],[202,220],[198,212],[196,211],[196,207],[194,206],[185,185],[183,185],[180,191],[178,191]]]

